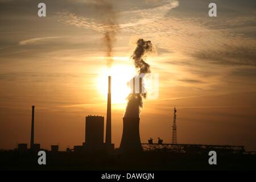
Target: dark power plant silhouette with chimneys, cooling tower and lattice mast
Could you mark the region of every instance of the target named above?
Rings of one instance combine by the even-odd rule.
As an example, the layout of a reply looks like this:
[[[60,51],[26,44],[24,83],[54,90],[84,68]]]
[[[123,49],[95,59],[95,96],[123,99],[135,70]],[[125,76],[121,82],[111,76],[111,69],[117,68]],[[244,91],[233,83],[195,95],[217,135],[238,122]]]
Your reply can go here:
[[[142,78],[139,78],[139,94],[142,93]],[[138,94],[135,90],[135,77],[133,78],[133,93]],[[207,144],[177,144],[177,126],[176,126],[176,107],[174,107],[174,121],[172,126],[172,138],[171,143],[163,143],[163,140],[159,138],[158,143],[153,143],[152,139],[148,140],[148,143],[141,143],[139,134],[139,117],[129,117],[124,115],[123,119],[123,131],[122,139],[119,148],[115,150],[112,143],[112,111],[111,111],[111,76],[108,77],[108,104],[106,111],[106,135],[104,142],[104,117],[98,115],[88,115],[85,117],[85,142],[81,146],[74,146],[73,148],[67,148],[67,152],[142,152],[142,151],[172,151],[178,153],[202,153],[207,150],[218,150],[225,152],[243,153],[245,152],[244,146],[221,146],[221,145],[207,145]],[[34,117],[35,106],[32,106],[32,119],[31,119],[31,141],[30,150],[39,151],[40,144],[34,143]],[[19,143],[18,151],[26,151],[27,144]],[[57,152],[59,146],[51,146],[51,151]]]

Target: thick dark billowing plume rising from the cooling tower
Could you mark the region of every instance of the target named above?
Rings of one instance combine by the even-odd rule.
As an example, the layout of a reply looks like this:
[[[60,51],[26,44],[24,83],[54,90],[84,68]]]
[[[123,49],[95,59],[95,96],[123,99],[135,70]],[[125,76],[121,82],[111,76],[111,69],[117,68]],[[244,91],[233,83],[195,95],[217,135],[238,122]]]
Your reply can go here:
[[[135,68],[137,68],[138,74],[150,73],[150,65],[147,64],[145,54],[152,51],[152,43],[150,40],[145,41],[139,39],[137,41],[137,47],[131,56],[134,60]],[[127,97],[127,106],[125,111],[125,118],[138,118],[141,113],[141,107],[143,106],[143,98],[146,98],[146,93],[130,93]]]

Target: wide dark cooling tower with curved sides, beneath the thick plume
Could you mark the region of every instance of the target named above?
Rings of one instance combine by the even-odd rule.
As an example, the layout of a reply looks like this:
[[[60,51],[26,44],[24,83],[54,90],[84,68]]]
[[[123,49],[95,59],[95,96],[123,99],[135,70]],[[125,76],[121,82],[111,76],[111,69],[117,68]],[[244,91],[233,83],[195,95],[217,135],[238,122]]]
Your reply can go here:
[[[123,135],[120,144],[122,152],[142,151],[139,137],[139,118],[123,118]]]

